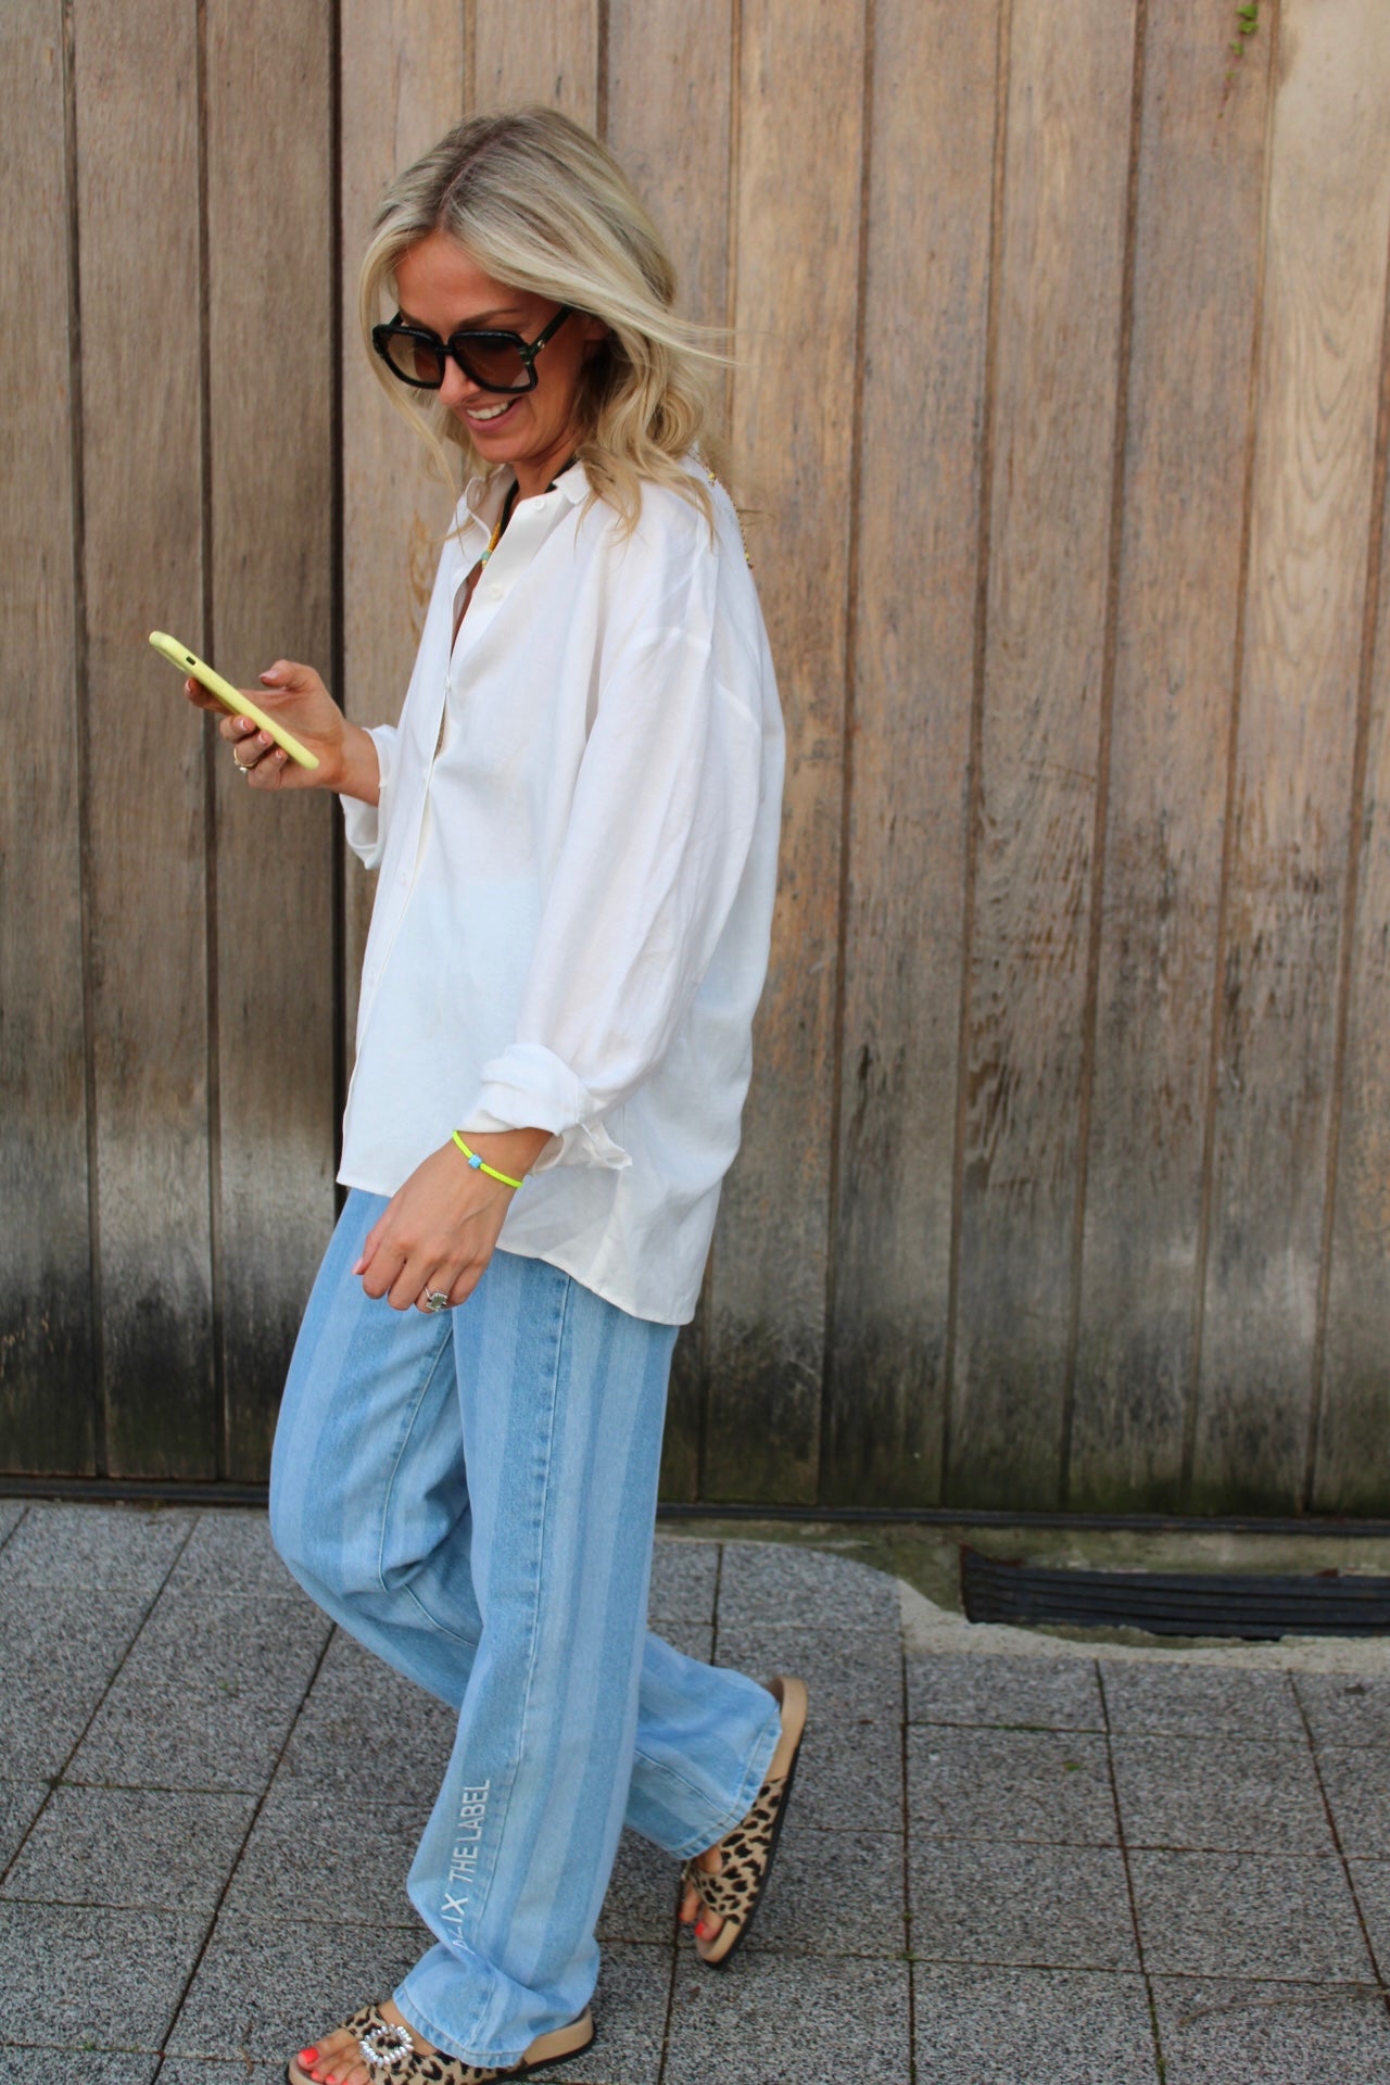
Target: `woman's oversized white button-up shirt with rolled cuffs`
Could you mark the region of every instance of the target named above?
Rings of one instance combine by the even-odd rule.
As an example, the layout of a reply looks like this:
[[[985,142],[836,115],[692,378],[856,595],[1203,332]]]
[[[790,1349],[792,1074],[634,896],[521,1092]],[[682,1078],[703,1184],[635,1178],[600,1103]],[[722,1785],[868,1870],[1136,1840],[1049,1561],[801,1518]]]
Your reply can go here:
[[[692,465],[694,469],[694,465]],[[696,1305],[767,974],[784,732],[738,517],[571,465],[463,586],[511,471],[444,542],[381,801],[338,1178],[394,1195],[452,1130],[550,1130],[500,1247],[636,1318]],[[458,1159],[463,1166],[463,1157]]]

